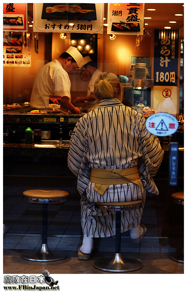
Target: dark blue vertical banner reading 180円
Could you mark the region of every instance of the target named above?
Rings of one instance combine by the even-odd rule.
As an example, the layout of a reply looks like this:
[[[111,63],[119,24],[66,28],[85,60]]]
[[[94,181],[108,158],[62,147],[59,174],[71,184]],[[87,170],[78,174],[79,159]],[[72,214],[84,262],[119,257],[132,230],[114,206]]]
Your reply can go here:
[[[154,30],[154,85],[177,86],[178,30]]]

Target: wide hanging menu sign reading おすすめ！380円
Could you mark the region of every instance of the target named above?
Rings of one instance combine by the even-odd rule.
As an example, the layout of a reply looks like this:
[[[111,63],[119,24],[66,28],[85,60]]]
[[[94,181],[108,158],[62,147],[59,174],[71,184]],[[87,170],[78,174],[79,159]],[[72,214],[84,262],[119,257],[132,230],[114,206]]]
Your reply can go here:
[[[103,33],[104,3],[34,3],[33,32]]]

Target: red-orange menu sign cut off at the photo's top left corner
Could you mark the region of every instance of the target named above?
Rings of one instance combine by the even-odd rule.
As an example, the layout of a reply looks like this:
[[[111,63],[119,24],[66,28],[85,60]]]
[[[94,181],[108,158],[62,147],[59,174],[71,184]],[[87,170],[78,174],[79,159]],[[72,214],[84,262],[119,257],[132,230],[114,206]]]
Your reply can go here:
[[[3,30],[27,31],[27,3],[3,3]]]

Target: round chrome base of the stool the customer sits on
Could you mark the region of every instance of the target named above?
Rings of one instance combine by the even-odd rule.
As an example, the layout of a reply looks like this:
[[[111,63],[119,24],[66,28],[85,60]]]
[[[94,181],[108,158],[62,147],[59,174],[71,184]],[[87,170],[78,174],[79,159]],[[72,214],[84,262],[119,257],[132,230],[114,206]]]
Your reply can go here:
[[[94,262],[96,269],[109,272],[130,272],[139,270],[143,264],[134,259],[122,259],[121,253],[116,253],[114,258],[100,259]]]

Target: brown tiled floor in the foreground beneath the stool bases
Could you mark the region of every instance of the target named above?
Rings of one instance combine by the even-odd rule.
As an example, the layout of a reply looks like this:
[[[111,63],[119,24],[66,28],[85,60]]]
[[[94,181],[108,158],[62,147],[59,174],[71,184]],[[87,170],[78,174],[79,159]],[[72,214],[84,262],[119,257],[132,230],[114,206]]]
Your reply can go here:
[[[3,253],[3,274],[183,274],[184,263],[169,259],[167,253],[122,253],[123,258],[138,259],[143,267],[133,272],[106,272],[95,269],[93,262],[102,258],[113,258],[114,253],[93,253],[88,261],[80,261],[77,251],[68,251],[68,257],[56,262],[35,262],[22,259],[23,250],[5,249]]]

